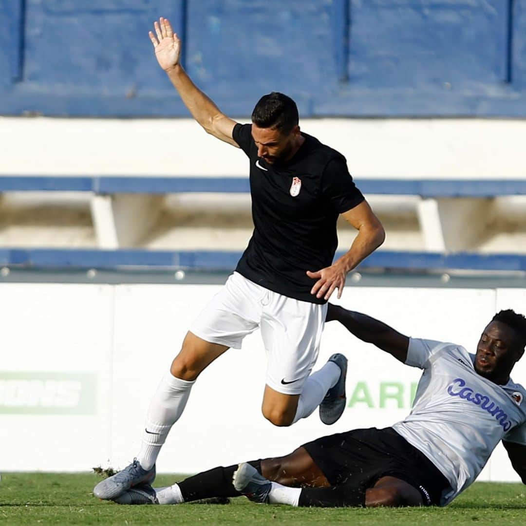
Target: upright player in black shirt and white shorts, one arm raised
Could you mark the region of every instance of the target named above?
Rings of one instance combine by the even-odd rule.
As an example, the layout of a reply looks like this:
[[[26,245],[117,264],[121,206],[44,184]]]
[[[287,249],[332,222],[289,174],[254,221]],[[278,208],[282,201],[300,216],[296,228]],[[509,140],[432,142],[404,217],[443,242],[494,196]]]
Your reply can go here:
[[[345,408],[347,359],[333,355],[311,374],[335,289],[378,248],[385,232],[349,175],[345,157],[300,131],[294,101],[261,97],[252,124],[222,114],[179,64],[180,40],[167,19],[150,39],[191,115],[207,133],[241,148],[250,159],[254,233],[227,283],[200,313],[151,401],[137,459],[94,489],[115,499],[155,477],[155,461],[185,408],[199,373],[257,328],[268,354],[262,412],[276,426],[308,417],[318,406],[324,423]],[[358,230],[350,250],[334,263],[336,220]]]

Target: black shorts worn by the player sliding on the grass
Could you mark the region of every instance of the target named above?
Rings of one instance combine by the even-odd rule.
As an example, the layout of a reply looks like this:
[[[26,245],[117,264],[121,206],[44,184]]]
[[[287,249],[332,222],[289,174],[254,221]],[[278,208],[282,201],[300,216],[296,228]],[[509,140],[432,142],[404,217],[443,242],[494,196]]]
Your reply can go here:
[[[363,503],[340,505],[365,505],[365,491],[387,476],[406,481],[420,491],[424,505],[439,505],[443,490],[450,485],[421,451],[392,428],[355,429],[319,438],[303,447],[331,486],[345,488],[333,494],[337,502],[357,502],[363,497]],[[318,500],[320,496],[312,498]]]

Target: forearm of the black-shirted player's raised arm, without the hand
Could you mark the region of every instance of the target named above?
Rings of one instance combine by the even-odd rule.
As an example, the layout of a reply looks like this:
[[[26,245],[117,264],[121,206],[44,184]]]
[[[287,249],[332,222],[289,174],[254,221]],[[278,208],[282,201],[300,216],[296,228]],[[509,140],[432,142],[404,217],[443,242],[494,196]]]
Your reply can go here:
[[[179,93],[185,106],[188,108],[192,117],[205,128],[208,133],[211,132],[214,119],[222,117],[219,108],[215,105],[206,94],[192,82],[186,71],[179,64],[166,71],[168,78]]]

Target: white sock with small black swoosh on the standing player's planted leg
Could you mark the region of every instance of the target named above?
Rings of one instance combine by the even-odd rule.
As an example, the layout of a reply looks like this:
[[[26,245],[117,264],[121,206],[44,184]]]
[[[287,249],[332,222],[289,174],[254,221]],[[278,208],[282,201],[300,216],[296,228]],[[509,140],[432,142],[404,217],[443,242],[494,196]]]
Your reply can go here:
[[[159,383],[146,413],[143,443],[137,455],[137,460],[143,469],[148,470],[154,466],[168,432],[183,414],[193,385],[194,381],[176,378],[170,371]]]

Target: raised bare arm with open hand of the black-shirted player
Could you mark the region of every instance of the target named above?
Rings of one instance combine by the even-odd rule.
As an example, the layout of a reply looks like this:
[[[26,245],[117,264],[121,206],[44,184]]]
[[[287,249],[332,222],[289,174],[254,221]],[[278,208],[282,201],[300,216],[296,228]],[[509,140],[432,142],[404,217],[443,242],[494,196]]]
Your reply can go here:
[[[179,62],[181,41],[174,33],[170,22],[161,17],[159,22],[154,23],[154,29],[155,35],[151,31],[148,34],[154,45],[157,62],[165,70],[194,119],[210,135],[239,148],[232,138],[232,130],[236,125],[235,120],[222,114],[214,102],[192,82],[181,66]]]

